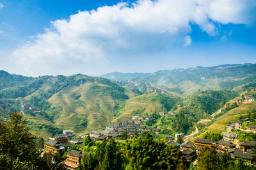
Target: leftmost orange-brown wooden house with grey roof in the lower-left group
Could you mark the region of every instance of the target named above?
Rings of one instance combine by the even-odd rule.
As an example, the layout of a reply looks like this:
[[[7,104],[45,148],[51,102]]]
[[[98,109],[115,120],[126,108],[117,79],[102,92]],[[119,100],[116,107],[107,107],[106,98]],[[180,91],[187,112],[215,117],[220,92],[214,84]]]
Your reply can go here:
[[[57,141],[47,141],[44,143],[44,149],[46,153],[63,153],[65,151],[65,147],[63,144],[58,143]]]

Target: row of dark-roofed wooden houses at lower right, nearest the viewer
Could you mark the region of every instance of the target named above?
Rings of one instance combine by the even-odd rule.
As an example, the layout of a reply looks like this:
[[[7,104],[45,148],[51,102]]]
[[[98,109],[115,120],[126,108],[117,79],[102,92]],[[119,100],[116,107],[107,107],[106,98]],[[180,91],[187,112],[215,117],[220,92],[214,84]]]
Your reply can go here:
[[[169,141],[166,144],[180,148],[183,157],[188,162],[194,162],[197,158],[197,154],[202,150],[202,148],[204,148],[204,146],[216,149],[216,151],[218,151],[218,155],[222,155],[226,151],[227,153],[230,153],[230,156],[234,160],[237,160],[237,158],[243,158],[246,162],[256,162],[256,156],[253,154],[253,150],[255,150],[256,147],[256,141],[241,141],[234,144],[228,141],[218,141],[214,143],[209,139],[196,139],[194,143],[188,141],[179,144],[175,141]]]

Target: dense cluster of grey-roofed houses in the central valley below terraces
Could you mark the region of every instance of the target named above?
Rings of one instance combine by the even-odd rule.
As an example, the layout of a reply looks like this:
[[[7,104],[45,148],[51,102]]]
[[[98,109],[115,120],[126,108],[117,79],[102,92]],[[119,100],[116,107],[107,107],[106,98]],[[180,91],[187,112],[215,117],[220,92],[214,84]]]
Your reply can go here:
[[[127,120],[122,122],[118,121],[114,124],[111,124],[109,127],[106,127],[101,132],[97,132],[93,130],[90,133],[90,137],[94,141],[116,138],[121,136],[122,132],[124,132],[125,130],[127,130],[127,139],[131,139],[134,132],[136,132],[136,134],[139,136],[141,135],[142,132],[145,132],[145,131],[159,133],[158,128],[141,126],[142,121],[151,122],[152,120],[153,120],[152,116],[132,116],[132,120]]]

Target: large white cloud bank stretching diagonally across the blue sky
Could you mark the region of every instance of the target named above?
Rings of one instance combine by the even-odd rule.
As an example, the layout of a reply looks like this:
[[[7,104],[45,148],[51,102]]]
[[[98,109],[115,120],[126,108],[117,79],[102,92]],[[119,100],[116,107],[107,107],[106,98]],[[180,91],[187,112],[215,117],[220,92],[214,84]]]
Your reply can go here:
[[[104,65],[124,54],[147,55],[173,43],[182,45],[184,40],[184,46],[190,45],[191,37],[186,35],[191,23],[211,36],[218,33],[216,23],[250,24],[253,13],[248,3],[255,8],[254,0],[140,0],[132,6],[103,6],[53,21],[45,33],[15,50],[12,58],[27,75],[74,69],[97,73],[92,63]]]

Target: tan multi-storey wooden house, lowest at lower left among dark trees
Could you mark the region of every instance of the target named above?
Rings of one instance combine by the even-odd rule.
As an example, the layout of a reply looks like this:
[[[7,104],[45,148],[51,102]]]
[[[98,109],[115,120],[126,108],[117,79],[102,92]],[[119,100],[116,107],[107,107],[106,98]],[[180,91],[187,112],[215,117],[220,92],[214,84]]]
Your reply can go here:
[[[81,162],[82,152],[76,150],[70,150],[66,153],[67,158],[64,161],[67,169],[77,169],[78,164]]]

